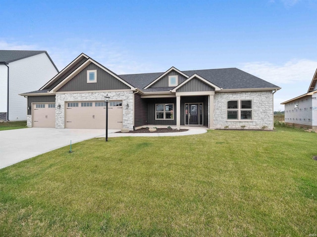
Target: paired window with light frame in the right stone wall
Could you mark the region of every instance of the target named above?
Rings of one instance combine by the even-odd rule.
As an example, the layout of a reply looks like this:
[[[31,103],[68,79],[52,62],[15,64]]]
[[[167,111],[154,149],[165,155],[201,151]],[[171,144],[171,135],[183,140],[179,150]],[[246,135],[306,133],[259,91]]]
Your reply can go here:
[[[227,101],[228,120],[252,120],[252,100]]]

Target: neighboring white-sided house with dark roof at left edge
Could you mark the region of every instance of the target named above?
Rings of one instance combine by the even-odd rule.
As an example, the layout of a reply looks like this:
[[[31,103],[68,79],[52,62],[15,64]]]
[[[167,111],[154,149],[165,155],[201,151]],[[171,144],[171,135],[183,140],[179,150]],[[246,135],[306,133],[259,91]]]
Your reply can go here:
[[[0,119],[26,120],[27,99],[58,73],[47,51],[0,50]]]

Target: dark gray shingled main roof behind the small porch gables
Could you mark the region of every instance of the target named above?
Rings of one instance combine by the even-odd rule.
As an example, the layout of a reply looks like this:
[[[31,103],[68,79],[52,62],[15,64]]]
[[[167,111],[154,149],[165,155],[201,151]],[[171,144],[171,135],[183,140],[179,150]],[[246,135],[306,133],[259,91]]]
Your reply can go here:
[[[237,68],[192,70],[182,72],[189,77],[197,74],[223,89],[279,87]],[[119,75],[119,77],[126,80],[134,87],[144,88],[162,74],[163,73],[130,74]]]

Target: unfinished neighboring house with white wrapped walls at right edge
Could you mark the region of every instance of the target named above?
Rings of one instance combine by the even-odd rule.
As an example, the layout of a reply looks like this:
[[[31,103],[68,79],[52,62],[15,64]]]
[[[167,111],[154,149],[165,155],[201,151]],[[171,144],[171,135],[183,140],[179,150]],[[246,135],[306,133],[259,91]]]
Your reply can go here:
[[[285,105],[285,123],[317,130],[317,70],[306,94],[281,103]]]

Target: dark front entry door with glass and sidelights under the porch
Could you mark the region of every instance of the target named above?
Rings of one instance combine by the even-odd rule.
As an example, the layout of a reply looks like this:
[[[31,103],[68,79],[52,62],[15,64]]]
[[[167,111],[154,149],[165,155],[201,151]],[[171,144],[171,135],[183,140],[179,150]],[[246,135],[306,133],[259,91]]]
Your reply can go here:
[[[185,124],[202,125],[203,124],[203,104],[188,103],[185,104]]]

